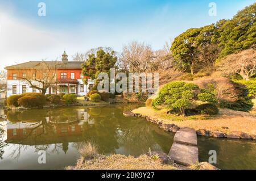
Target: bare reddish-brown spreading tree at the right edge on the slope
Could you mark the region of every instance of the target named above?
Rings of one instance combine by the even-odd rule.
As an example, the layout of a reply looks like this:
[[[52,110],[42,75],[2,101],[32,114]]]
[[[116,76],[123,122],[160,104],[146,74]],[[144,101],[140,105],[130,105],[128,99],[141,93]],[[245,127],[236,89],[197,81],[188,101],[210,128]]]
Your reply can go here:
[[[240,74],[246,81],[256,74],[256,50],[247,49],[237,54],[230,54],[218,65],[224,75]]]

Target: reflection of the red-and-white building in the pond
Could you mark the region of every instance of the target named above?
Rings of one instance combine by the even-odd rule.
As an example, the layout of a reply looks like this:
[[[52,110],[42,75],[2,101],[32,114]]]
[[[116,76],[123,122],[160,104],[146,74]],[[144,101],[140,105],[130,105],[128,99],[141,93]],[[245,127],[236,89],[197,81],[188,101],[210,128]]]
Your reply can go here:
[[[75,117],[74,117],[75,116]],[[80,142],[84,123],[92,124],[90,116],[85,109],[76,110],[75,115],[47,116],[43,121],[31,122],[10,122],[7,121],[6,142],[22,145],[46,145],[61,144],[63,151],[67,153],[69,142]]]

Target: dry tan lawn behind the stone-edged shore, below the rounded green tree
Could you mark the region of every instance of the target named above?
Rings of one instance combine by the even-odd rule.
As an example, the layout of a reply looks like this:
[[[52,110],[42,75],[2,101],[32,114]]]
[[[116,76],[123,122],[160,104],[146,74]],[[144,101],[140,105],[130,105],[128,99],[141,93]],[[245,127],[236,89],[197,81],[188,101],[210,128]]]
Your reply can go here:
[[[189,120],[188,117],[182,116],[180,116],[180,120],[177,118],[171,119],[166,117],[164,112],[156,111],[150,107],[141,107],[133,110],[133,112],[162,120],[167,124],[176,124],[178,127],[190,127],[196,130],[207,129],[224,133],[241,131],[248,134],[256,134],[256,115],[247,112],[220,109],[218,115],[205,120],[197,119],[197,117]]]

